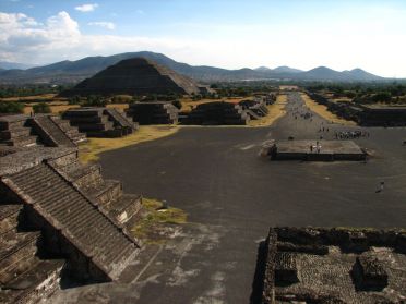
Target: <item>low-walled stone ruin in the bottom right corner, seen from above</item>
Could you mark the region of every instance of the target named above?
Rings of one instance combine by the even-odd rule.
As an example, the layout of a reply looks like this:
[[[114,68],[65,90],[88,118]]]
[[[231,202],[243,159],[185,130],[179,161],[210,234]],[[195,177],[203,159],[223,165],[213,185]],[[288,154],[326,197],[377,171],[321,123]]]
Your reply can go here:
[[[271,228],[262,301],[403,303],[405,236],[396,230]]]

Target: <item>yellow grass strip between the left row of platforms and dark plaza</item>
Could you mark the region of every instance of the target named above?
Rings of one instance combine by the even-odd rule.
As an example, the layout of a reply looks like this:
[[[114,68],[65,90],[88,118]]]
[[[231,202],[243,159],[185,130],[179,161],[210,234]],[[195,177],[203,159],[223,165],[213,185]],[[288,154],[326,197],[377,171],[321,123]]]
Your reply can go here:
[[[179,130],[176,125],[142,125],[131,135],[120,138],[88,138],[87,143],[79,147],[79,158],[83,163],[96,161],[99,154],[120,149],[143,142],[158,139],[175,134]]]

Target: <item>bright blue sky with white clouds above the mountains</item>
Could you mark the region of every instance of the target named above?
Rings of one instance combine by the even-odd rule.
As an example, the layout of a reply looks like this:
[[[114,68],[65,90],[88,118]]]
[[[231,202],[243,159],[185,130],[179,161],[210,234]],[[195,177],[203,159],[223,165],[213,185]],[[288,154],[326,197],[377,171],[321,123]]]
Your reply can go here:
[[[327,65],[406,77],[406,1],[0,0],[0,61],[139,50],[194,65]]]

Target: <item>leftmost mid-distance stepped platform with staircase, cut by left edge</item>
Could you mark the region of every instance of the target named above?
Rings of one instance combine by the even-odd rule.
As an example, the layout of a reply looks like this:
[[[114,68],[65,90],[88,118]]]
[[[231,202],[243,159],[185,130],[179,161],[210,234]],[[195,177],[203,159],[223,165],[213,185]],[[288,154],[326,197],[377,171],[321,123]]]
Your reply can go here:
[[[75,147],[86,136],[58,115],[17,114],[0,117],[0,145],[29,147]]]

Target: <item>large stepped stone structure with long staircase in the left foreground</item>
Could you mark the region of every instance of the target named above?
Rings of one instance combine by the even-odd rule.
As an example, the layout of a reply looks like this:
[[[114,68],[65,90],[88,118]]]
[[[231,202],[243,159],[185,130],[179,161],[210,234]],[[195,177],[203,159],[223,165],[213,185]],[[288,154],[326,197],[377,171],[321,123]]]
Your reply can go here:
[[[141,242],[141,195],[123,194],[76,148],[2,148],[0,302],[35,303],[59,281],[118,280]]]

